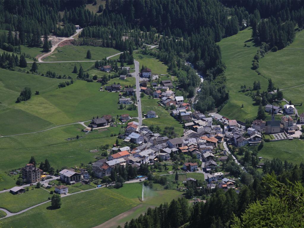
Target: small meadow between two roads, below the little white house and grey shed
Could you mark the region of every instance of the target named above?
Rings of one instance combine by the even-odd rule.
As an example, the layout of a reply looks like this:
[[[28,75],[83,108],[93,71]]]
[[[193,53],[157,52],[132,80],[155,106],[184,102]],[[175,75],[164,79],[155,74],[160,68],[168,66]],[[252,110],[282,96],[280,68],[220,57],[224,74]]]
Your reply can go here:
[[[0,208],[7,209],[9,212],[16,213],[28,207],[47,201],[50,193],[42,188],[29,188],[29,191],[19,195],[10,192],[0,194]]]

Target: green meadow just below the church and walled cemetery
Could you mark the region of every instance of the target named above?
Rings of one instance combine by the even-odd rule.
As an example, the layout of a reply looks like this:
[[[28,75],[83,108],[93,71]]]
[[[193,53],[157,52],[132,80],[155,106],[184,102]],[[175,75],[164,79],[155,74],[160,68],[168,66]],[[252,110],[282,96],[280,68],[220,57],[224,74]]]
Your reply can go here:
[[[298,139],[269,142],[264,143],[258,155],[270,160],[278,157],[283,162],[287,160],[293,164],[300,164],[304,161],[303,147],[304,141]]]

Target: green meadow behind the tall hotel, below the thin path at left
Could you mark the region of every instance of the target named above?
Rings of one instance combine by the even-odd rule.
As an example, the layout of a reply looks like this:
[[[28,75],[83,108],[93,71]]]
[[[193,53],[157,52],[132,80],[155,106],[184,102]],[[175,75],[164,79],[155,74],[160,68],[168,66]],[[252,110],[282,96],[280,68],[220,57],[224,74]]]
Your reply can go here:
[[[46,158],[51,166],[61,168],[73,167],[81,162],[95,161],[94,156],[99,153],[91,153],[90,150],[99,148],[105,144],[115,143],[116,137],[111,137],[117,127],[109,127],[103,131],[94,131],[85,134],[81,132],[84,127],[80,124],[67,125],[41,133],[26,134],[0,138],[0,173],[23,167],[33,155],[37,162]],[[68,138],[80,138],[67,140]],[[7,175],[3,176],[0,189],[12,187],[15,180]]]

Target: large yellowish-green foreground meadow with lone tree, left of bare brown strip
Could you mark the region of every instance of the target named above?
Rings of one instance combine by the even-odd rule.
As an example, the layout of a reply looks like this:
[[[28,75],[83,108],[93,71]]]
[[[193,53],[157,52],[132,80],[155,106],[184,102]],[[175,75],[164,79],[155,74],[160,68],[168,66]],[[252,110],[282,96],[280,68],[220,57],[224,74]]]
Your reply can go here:
[[[20,215],[3,219],[2,227],[91,228],[138,205],[109,189],[102,188],[62,198],[60,209],[49,209],[50,202]],[[85,219],[84,219],[85,218]]]

